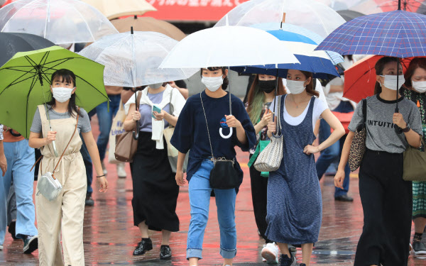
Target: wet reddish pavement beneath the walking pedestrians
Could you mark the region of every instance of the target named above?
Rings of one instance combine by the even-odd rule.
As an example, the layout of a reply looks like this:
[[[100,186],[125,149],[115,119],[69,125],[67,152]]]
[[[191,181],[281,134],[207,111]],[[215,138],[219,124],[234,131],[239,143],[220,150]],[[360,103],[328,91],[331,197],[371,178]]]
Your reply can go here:
[[[94,132],[96,124],[92,121]],[[251,203],[249,161],[247,153],[238,153],[239,162],[244,170],[244,182],[236,197],[236,226],[238,253],[234,265],[266,265],[262,262],[261,248],[264,241],[258,236]],[[107,194],[94,192],[95,205],[86,207],[84,214],[84,256],[86,265],[188,265],[185,259],[186,237],[190,223],[190,205],[187,187],[180,189],[178,198],[178,216],[180,232],[172,233],[170,248],[173,251],[171,261],[159,260],[161,234],[151,232],[153,250],[146,255],[132,255],[141,236],[138,228],[133,226],[131,208],[132,185],[130,167],[126,165],[128,177],[119,179],[115,165],[108,165],[109,191]],[[320,238],[312,254],[312,265],[353,265],[356,244],[361,235],[363,214],[359,199],[358,179],[351,174],[349,195],[354,202],[334,201],[334,184],[332,177],[321,181],[323,199],[323,218]],[[95,190],[95,189],[94,189]],[[217,223],[214,198],[210,204],[209,223],[204,235],[203,257],[200,265],[222,265],[219,255],[219,225]],[[426,235],[423,238],[426,240]],[[0,265],[38,265],[38,251],[31,255],[21,253],[22,240],[13,240],[6,233],[4,250],[0,251]],[[297,249],[300,263],[302,253]],[[425,266],[426,260],[410,255],[410,266]]]

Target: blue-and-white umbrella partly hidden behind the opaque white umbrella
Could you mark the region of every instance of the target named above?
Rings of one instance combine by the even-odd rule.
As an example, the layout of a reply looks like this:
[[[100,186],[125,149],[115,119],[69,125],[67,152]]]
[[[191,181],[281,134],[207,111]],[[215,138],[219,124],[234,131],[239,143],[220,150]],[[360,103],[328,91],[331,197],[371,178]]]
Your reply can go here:
[[[314,49],[317,47],[317,43],[314,40],[304,35],[281,29],[268,31],[268,33],[285,42],[300,64],[278,64],[278,67],[276,65],[231,67],[231,70],[255,74],[271,74],[278,77],[287,77],[287,70],[312,72],[314,77],[322,79],[329,79],[330,76],[339,76],[332,60],[325,52],[314,52]]]

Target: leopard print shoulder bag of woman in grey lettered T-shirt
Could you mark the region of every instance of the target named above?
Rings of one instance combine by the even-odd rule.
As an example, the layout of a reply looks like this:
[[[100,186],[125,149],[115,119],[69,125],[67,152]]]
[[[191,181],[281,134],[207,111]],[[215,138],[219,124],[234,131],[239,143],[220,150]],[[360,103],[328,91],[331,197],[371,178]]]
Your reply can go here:
[[[361,165],[362,158],[366,152],[366,138],[367,138],[367,101],[362,100],[362,115],[364,122],[356,128],[354,139],[351,143],[351,150],[349,151],[349,168],[354,172]]]

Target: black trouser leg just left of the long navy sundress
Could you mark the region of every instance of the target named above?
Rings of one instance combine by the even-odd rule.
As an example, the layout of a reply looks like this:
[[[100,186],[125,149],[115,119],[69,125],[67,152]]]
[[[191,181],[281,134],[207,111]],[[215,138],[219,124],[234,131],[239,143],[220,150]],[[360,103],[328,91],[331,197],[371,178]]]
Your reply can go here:
[[[251,157],[251,155],[250,155]],[[268,191],[268,178],[262,177],[261,172],[256,170],[253,165],[250,167],[250,182],[251,182],[251,199],[253,200],[254,219],[258,227],[259,233],[266,243],[273,243],[265,236],[266,228],[266,203]]]

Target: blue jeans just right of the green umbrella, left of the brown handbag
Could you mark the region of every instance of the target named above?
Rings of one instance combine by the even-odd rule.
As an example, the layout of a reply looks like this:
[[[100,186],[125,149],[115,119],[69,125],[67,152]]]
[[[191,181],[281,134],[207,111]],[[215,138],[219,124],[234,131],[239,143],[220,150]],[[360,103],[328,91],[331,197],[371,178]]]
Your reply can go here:
[[[99,150],[99,156],[101,157],[101,162],[105,158],[105,153],[107,151],[107,145],[109,140],[109,131],[111,131],[112,126],[112,118],[115,116],[117,111],[119,111],[120,107],[120,99],[121,95],[110,95],[109,97],[109,111],[108,111],[108,103],[105,101],[102,104],[99,104],[96,107],[96,113],[99,121],[99,136],[97,139],[97,145]]]

